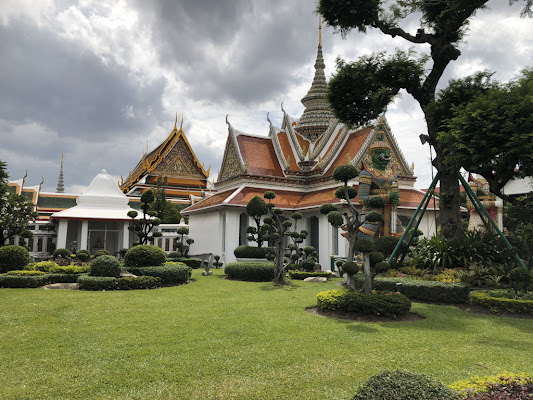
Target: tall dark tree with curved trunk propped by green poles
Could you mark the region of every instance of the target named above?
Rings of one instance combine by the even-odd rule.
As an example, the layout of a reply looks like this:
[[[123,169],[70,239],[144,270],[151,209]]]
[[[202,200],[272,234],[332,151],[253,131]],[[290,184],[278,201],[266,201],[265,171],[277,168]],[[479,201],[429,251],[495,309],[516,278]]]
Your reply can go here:
[[[531,15],[531,0],[524,1],[523,15]],[[382,113],[400,89],[420,104],[426,118],[427,142],[435,147],[433,165],[440,172],[441,210],[439,223],[446,238],[462,235],[460,194],[456,171],[444,162],[446,144],[438,140],[442,121],[432,110],[437,84],[448,64],[461,52],[458,43],[468,23],[488,0],[319,0],[317,11],[328,25],[343,35],[357,29],[379,29],[383,34],[401,37],[415,45],[429,45],[429,54],[396,51],[394,55],[376,52],[356,62],[337,62],[330,81],[328,99],[336,116],[350,125],[364,125]],[[419,28],[409,32],[401,27],[408,16],[420,15]],[[427,62],[431,60],[432,65]]]

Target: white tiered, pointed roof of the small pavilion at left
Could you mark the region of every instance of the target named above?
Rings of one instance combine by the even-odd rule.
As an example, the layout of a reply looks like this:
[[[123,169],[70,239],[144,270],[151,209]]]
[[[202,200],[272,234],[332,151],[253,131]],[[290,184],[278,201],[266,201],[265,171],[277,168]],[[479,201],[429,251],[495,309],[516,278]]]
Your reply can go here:
[[[99,219],[129,221],[129,199],[105,169],[93,179],[74,207],[54,213],[53,219]],[[140,216],[139,216],[140,217]]]

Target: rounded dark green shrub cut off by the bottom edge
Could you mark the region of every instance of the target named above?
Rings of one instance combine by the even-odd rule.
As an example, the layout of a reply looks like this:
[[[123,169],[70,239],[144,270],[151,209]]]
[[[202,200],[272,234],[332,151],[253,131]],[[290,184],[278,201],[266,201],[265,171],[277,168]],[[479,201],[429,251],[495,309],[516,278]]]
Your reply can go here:
[[[457,395],[427,375],[385,371],[368,378],[353,400],[456,400]]]

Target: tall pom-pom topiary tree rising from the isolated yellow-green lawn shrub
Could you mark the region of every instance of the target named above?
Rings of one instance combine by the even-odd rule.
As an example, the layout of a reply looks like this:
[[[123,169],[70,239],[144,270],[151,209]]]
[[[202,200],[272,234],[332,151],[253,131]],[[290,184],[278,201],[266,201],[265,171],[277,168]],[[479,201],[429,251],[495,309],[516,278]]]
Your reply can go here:
[[[359,176],[359,170],[352,164],[339,165],[333,171],[333,178],[343,183],[343,185],[335,191],[335,197],[346,201],[346,204],[348,205],[348,212],[341,214],[339,211],[337,211],[337,207],[330,203],[322,204],[320,207],[320,213],[327,215],[328,222],[332,226],[337,228],[343,227],[343,229],[346,230],[346,236],[348,239],[348,255],[346,257],[346,262],[348,263],[354,261],[355,252],[357,250],[357,242],[362,242],[360,244],[361,250],[358,251],[363,253],[363,260],[365,260],[365,252],[368,254],[374,251],[373,244],[369,245],[365,243],[368,242],[367,240],[357,240],[357,229],[363,225],[365,221],[381,222],[383,220],[383,215],[378,211],[371,211],[365,215],[364,219],[362,219],[361,214],[355,208],[355,204],[352,202],[352,199],[357,197],[357,190],[353,186],[348,186],[348,182],[352,181],[357,176]],[[368,265],[365,268],[365,263],[363,262],[363,272],[365,273],[365,292],[370,293],[372,291],[372,272],[370,270],[369,261],[367,264]],[[350,270],[353,270],[352,267],[349,268]],[[348,274],[344,268],[343,270]],[[353,275],[350,276],[348,274],[348,286],[352,290],[355,290],[353,280],[351,279],[352,276]]]

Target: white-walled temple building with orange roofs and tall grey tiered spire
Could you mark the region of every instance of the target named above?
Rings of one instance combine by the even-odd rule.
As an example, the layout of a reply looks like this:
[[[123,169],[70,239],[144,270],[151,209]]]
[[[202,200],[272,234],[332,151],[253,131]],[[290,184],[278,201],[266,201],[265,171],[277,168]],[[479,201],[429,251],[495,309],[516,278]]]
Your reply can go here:
[[[320,32],[320,31],[319,31]],[[319,213],[324,203],[347,209],[345,201],[335,197],[339,182],[333,171],[351,163],[362,172],[351,184],[359,189],[355,203],[365,205],[369,195],[399,192],[398,206],[386,207],[388,219],[384,234],[397,235],[419,205],[424,192],[414,188],[413,167],[405,160],[386,118],[363,127],[349,127],[335,118],[326,100],[321,35],[315,75],[311,88],[302,99],[305,107],[299,119],[283,109],[280,127],[270,121],[267,136],[257,136],[234,128],[226,119],[228,138],[220,173],[215,183],[217,193],[183,211],[189,216],[195,250],[212,252],[232,262],[234,249],[247,242],[246,227],[251,219],[246,214],[248,201],[267,190],[276,193],[273,203],[286,210],[303,214],[298,230],[309,232],[307,243],[319,253],[319,263],[329,269],[330,255],[345,256],[348,242],[341,230],[333,228],[327,217]],[[386,210],[386,211],[387,211]],[[430,205],[419,229],[431,235],[435,230],[435,212]]]

